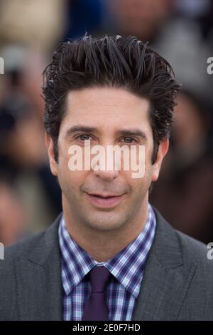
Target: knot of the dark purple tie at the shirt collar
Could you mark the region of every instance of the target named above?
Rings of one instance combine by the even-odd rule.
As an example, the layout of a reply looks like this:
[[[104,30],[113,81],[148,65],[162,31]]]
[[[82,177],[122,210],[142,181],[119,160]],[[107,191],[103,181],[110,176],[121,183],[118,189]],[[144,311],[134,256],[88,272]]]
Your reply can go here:
[[[94,267],[89,272],[92,293],[104,292],[111,273],[106,267]]]

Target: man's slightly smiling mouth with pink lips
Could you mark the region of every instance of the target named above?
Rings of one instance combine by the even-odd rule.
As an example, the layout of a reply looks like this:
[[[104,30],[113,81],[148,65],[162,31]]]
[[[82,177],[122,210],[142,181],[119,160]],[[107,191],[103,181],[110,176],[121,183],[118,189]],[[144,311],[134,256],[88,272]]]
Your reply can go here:
[[[116,205],[119,205],[121,200],[124,197],[124,194],[122,195],[104,195],[104,194],[89,194],[87,193],[89,200],[92,202],[93,205],[97,207],[115,207]]]

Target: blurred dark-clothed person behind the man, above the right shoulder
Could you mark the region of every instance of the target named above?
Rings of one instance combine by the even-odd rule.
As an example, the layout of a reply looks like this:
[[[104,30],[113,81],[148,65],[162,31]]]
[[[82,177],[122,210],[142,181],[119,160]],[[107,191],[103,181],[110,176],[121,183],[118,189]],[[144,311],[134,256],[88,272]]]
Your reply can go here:
[[[182,91],[175,108],[170,153],[151,202],[173,227],[202,242],[213,240],[212,110]]]

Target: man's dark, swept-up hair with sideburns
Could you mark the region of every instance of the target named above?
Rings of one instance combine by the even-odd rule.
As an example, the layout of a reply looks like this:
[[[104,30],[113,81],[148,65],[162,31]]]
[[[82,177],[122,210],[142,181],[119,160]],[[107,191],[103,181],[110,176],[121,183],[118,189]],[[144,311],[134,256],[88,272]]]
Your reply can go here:
[[[148,43],[134,36],[94,38],[85,35],[77,41],[60,43],[43,76],[44,124],[53,138],[56,161],[67,93],[91,86],[110,86],[148,98],[154,143],[152,163],[155,162],[160,141],[170,135],[180,85],[168,61]]]

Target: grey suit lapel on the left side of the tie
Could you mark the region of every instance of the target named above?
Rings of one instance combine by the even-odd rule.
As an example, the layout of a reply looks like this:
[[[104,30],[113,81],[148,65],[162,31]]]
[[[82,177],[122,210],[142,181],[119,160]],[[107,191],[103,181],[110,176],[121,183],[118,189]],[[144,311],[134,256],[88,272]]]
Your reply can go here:
[[[60,218],[41,235],[31,252],[16,263],[18,319],[62,319],[59,221]]]

